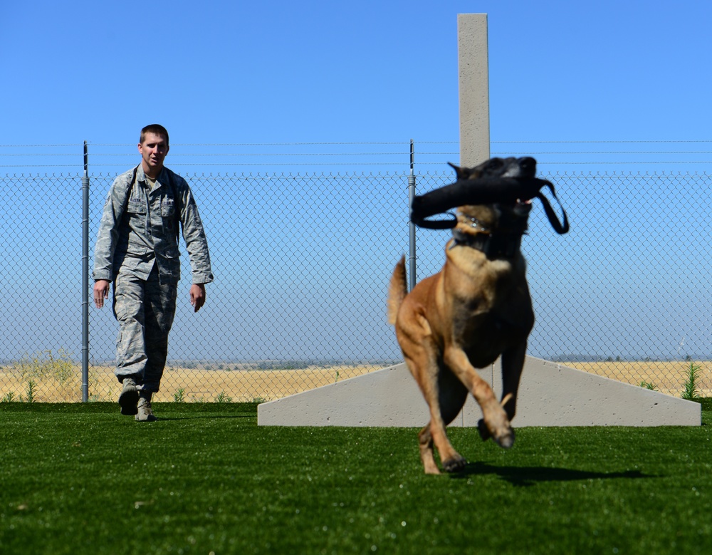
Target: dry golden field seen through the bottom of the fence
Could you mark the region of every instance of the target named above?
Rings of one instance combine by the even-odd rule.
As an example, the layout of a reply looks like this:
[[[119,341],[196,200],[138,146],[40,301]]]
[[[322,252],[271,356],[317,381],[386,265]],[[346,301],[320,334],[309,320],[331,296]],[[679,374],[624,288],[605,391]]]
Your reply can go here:
[[[632,385],[649,384],[655,390],[680,397],[684,391],[689,362],[594,362],[562,363],[570,368],[613,378]],[[696,362],[696,381],[701,397],[712,397],[712,363]],[[299,370],[219,370],[166,368],[156,401],[244,402],[273,400],[379,370],[382,366],[341,365]],[[120,386],[108,366],[92,366],[89,375],[90,400],[113,401]],[[80,402],[81,368],[72,365],[61,375],[24,375],[13,366],[0,368],[0,400],[31,400],[44,403]]]

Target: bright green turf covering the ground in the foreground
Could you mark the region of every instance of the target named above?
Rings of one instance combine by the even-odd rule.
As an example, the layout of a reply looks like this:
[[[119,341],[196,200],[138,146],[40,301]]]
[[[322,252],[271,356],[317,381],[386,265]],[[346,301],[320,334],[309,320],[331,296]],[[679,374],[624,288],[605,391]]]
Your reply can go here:
[[[710,409],[701,427],[522,428],[509,451],[454,428],[470,463],[433,477],[414,428],[0,403],[0,553],[712,553]]]

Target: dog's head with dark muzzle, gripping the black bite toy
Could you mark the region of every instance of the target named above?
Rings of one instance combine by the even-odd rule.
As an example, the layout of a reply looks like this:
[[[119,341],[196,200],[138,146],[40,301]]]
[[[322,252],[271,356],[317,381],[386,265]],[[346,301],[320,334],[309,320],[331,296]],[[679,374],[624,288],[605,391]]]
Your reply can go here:
[[[491,158],[476,167],[451,166],[458,181],[508,177],[533,179],[536,173],[536,160],[531,157]],[[532,204],[528,199],[461,206],[457,209],[456,228],[466,234],[523,234],[527,229],[531,209]]]

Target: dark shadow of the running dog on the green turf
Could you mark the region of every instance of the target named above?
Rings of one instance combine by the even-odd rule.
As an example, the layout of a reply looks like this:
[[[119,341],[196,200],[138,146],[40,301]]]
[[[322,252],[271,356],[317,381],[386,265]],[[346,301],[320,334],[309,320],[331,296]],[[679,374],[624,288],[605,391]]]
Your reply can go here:
[[[521,487],[533,486],[539,482],[572,482],[574,480],[587,479],[640,479],[654,477],[643,474],[639,470],[627,470],[626,472],[587,472],[586,470],[570,470],[567,468],[499,467],[488,465],[486,462],[468,462],[461,472],[451,474],[451,477],[454,479],[462,479],[470,476],[482,476],[484,474],[496,474],[510,484]]]

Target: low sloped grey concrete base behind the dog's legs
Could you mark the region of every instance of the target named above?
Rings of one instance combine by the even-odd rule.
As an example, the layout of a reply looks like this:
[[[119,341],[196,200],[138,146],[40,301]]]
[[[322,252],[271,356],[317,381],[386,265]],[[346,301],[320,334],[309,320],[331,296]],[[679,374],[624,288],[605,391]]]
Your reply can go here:
[[[498,363],[481,371],[501,396]],[[528,357],[514,427],[698,426],[701,406],[617,380]],[[476,426],[470,395],[451,426]],[[325,385],[257,407],[261,426],[422,427],[427,405],[405,364]]]

